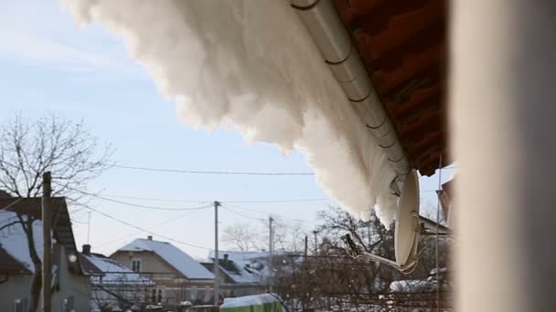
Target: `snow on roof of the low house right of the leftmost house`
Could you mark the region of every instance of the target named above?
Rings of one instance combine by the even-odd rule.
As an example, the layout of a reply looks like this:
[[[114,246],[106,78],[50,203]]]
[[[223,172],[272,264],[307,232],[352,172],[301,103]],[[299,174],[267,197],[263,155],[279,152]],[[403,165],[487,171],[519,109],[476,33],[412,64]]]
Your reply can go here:
[[[91,281],[94,284],[154,284],[150,279],[140,276],[128,267],[104,255],[81,255],[102,272],[102,276],[91,276]]]

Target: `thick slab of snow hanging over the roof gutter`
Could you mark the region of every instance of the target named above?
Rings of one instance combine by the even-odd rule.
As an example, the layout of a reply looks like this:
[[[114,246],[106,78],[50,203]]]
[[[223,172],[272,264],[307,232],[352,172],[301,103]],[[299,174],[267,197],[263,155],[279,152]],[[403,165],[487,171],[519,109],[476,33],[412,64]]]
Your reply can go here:
[[[390,224],[395,172],[286,0],[61,0],[143,64],[189,125],[305,153],[342,207]]]

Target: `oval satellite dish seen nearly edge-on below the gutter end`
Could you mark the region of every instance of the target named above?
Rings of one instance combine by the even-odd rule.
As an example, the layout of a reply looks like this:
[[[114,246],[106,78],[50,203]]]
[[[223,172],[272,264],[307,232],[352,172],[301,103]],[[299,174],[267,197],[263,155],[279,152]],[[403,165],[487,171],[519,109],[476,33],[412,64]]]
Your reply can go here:
[[[411,270],[417,264],[417,237],[419,232],[419,176],[412,170],[403,183],[396,211],[394,251],[401,271]]]

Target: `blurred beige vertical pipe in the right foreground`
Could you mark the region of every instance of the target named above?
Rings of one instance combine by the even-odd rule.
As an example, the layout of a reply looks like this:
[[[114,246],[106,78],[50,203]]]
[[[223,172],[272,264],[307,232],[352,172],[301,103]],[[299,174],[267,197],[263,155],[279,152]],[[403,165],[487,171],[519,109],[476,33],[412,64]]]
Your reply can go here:
[[[556,311],[556,1],[452,6],[458,311]]]

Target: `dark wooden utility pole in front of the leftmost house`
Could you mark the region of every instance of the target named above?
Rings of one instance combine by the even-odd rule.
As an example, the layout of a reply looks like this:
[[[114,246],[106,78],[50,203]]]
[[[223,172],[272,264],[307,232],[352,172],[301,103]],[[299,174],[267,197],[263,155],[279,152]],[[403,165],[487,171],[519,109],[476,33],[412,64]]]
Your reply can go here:
[[[52,234],[50,224],[50,172],[42,176],[42,309],[43,312],[51,312],[51,290],[52,290]]]

